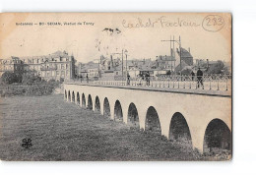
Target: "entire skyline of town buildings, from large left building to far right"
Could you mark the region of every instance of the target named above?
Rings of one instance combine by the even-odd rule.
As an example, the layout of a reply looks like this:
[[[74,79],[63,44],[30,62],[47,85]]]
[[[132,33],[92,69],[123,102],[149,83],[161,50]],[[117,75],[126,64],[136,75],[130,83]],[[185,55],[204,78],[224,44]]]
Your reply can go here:
[[[177,59],[175,58],[177,55]],[[44,80],[72,80],[76,78],[89,78],[97,80],[119,80],[126,78],[127,74],[131,78],[145,75],[149,72],[151,76],[158,77],[166,74],[177,74],[182,70],[189,69],[196,71],[198,67],[203,70],[216,64],[217,61],[196,59],[194,63],[190,49],[177,49],[172,55],[159,55],[156,59],[129,59],[115,57],[109,58],[100,56],[97,63],[78,63],[73,55],[66,51],[57,51],[52,54],[42,56],[16,57],[0,59],[0,76],[4,72],[32,73]],[[227,67],[231,67],[227,65]]]

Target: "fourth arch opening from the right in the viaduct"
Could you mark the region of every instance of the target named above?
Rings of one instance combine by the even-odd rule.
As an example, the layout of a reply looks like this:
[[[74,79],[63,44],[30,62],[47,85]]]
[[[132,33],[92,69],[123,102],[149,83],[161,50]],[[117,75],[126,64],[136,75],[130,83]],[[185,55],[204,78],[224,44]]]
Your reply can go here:
[[[140,129],[138,110],[133,102],[131,102],[128,107],[127,124]]]

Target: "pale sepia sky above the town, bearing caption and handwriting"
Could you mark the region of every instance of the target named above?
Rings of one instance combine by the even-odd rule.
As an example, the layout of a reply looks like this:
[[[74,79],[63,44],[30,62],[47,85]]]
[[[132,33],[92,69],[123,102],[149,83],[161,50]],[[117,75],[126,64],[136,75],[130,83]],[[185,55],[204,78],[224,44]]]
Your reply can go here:
[[[90,62],[127,50],[128,59],[156,59],[170,53],[169,42],[161,40],[180,36],[194,59],[230,61],[230,24],[229,14],[6,13],[0,16],[0,58],[65,50],[78,62]]]

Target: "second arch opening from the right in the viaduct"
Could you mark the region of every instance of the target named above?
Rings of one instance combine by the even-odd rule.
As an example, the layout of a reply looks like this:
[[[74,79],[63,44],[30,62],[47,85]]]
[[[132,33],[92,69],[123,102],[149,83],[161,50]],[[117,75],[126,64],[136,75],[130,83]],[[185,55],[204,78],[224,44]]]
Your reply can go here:
[[[186,119],[180,112],[173,114],[169,125],[169,139],[188,144],[192,147],[192,138]]]

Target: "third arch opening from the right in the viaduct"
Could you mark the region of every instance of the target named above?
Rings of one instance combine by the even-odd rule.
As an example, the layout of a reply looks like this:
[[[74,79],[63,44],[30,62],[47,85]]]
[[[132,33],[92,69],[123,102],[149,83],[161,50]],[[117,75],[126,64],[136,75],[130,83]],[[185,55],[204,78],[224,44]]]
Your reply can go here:
[[[145,130],[161,135],[159,114],[153,106],[150,106],[147,110]]]

